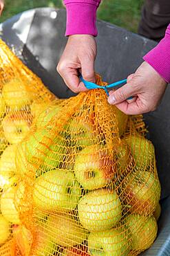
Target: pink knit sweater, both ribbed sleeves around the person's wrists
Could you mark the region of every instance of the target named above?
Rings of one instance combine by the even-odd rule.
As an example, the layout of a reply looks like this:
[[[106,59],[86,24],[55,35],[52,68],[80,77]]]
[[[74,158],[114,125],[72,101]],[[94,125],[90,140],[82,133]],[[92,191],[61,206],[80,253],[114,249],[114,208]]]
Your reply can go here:
[[[67,9],[65,35],[97,35],[96,10],[100,0],[64,0]],[[143,59],[170,82],[170,24],[164,39]]]

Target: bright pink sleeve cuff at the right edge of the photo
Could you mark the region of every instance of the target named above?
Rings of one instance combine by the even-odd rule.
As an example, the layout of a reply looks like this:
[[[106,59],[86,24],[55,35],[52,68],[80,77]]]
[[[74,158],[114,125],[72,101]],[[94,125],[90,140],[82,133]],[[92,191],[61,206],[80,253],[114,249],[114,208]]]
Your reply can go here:
[[[164,78],[170,82],[170,24],[164,38],[143,59]]]

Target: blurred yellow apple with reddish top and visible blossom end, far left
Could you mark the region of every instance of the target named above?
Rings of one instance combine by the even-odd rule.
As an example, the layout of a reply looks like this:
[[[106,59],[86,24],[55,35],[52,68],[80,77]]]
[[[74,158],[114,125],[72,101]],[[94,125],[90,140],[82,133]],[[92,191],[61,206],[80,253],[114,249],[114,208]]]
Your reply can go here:
[[[25,111],[8,113],[3,118],[2,127],[4,135],[10,144],[19,143],[30,131],[32,117]]]

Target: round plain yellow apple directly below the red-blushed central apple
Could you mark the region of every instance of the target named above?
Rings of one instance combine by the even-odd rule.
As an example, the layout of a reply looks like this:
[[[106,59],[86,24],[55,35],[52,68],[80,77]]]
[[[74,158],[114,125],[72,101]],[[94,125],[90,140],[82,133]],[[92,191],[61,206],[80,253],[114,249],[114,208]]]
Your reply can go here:
[[[78,217],[89,231],[112,228],[122,217],[120,199],[107,189],[91,191],[78,202]]]

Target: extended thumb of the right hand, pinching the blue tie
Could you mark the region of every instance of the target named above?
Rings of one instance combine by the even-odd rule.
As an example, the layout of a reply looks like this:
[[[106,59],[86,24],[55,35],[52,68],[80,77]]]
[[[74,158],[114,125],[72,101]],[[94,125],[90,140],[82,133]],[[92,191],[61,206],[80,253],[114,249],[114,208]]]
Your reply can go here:
[[[131,86],[131,82],[128,82],[127,84],[117,89],[116,91],[110,91],[108,102],[110,104],[118,104],[134,95],[136,95],[136,91],[134,91],[133,86]]]

